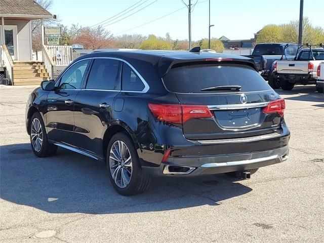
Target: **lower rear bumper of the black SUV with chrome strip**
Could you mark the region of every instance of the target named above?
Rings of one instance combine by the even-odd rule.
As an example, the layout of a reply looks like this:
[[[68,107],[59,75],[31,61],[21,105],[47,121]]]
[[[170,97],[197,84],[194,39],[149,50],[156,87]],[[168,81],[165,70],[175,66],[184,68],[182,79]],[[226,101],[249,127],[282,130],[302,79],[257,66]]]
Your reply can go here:
[[[255,153],[169,158],[159,167],[142,167],[153,176],[199,176],[255,169],[287,160],[288,145]],[[179,171],[183,168],[183,171]]]

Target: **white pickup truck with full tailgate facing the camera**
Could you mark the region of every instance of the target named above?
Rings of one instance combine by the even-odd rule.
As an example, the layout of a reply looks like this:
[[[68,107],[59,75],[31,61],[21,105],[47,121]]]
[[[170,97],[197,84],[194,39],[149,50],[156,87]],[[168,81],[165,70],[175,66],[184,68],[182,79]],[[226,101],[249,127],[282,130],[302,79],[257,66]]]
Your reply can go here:
[[[315,84],[321,62],[324,62],[323,48],[302,49],[295,60],[277,60],[273,64],[272,80],[276,88],[283,90],[292,90],[295,84]]]

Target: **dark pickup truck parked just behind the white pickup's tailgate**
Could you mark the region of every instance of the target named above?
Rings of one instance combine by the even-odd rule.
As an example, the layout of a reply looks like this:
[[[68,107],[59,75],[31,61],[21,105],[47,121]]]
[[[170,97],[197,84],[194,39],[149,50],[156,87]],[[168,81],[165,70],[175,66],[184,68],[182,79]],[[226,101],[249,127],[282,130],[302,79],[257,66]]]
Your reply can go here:
[[[298,51],[294,43],[261,43],[257,44],[252,55],[246,56],[254,59],[261,76],[268,80],[273,71],[276,60],[293,60]]]

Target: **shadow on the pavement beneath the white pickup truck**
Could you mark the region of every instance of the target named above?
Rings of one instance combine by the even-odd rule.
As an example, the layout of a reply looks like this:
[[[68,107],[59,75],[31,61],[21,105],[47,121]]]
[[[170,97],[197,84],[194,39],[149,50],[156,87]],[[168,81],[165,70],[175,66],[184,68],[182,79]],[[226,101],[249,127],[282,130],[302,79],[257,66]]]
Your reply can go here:
[[[324,102],[324,95],[316,92],[315,85],[297,85],[291,91],[276,89],[275,92],[279,95],[294,95],[293,97],[285,98],[286,100]]]

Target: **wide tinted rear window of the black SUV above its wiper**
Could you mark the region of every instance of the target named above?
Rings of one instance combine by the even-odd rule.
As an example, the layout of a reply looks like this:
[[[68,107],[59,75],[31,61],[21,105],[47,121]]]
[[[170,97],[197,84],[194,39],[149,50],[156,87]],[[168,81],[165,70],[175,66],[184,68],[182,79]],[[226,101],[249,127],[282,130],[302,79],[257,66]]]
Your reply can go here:
[[[201,91],[201,89],[239,85],[241,92],[271,89],[261,75],[246,65],[192,65],[172,68],[163,78],[166,88],[175,93],[222,93],[233,91]]]

